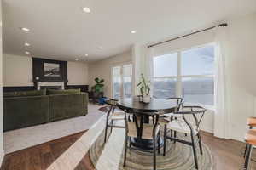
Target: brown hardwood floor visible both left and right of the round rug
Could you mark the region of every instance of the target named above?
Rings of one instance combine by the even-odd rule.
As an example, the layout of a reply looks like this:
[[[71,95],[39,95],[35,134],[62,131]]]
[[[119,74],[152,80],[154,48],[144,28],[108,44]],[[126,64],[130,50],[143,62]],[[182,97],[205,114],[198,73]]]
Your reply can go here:
[[[44,170],[47,169],[65,150],[67,150],[84,133],[76,133],[48,143],[39,144],[31,148],[10,153],[4,157],[1,170]],[[202,133],[202,140],[212,151],[214,170],[242,169],[243,158],[241,149],[244,144],[235,140],[218,139],[211,133]],[[255,151],[256,152],[256,151]],[[254,156],[255,155],[255,156]],[[253,154],[256,159],[256,153]],[[252,169],[256,163],[251,162]],[[55,168],[52,168],[55,169]],[[87,155],[79,162],[76,170],[95,169]]]

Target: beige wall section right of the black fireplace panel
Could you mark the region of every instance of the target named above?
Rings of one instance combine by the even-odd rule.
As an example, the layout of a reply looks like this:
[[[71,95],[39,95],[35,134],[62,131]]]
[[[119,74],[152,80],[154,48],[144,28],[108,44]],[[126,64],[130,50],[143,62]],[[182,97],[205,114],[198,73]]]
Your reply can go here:
[[[89,69],[87,63],[67,62],[67,84],[89,84]]]

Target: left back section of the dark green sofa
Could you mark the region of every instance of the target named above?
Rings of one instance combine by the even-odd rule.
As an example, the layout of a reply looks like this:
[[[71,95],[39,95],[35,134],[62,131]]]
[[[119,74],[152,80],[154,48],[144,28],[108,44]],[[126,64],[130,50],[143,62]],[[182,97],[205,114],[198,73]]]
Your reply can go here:
[[[3,131],[49,122],[49,96],[3,98]]]

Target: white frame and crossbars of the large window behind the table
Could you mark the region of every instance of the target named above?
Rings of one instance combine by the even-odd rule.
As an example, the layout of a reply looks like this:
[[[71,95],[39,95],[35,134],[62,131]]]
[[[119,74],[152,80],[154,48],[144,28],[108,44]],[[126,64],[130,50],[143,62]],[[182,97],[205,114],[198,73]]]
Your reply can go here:
[[[205,43],[205,44],[202,44],[200,46],[194,46],[194,47],[191,47],[191,48],[181,48],[179,50],[173,50],[171,51],[170,53],[168,54],[174,54],[174,53],[177,53],[177,76],[170,76],[170,77],[154,77],[153,76],[153,79],[161,79],[161,78],[171,78],[171,79],[176,79],[176,96],[177,97],[183,97],[183,94],[182,94],[182,88],[183,88],[183,83],[182,83],[182,79],[183,78],[203,78],[203,77],[213,77],[213,82],[215,82],[215,75],[214,75],[214,71],[213,71],[213,74],[206,74],[206,75],[182,75],[182,52],[183,51],[187,51],[187,50],[191,50],[191,49],[194,49],[194,48],[204,48],[204,47],[207,47],[209,45],[212,45],[214,47],[214,59],[215,59],[215,46],[216,46],[216,43],[214,42],[210,42],[210,43]],[[161,55],[165,55],[165,54],[160,54],[160,55],[156,55],[154,57],[159,57]],[[215,95],[215,92],[213,91],[213,96]],[[201,105],[207,109],[210,109],[210,110],[214,110],[215,108],[215,103],[213,101],[213,105],[204,105],[204,104],[201,104],[201,103],[189,103],[189,102],[185,102],[185,104],[189,104],[189,105]]]

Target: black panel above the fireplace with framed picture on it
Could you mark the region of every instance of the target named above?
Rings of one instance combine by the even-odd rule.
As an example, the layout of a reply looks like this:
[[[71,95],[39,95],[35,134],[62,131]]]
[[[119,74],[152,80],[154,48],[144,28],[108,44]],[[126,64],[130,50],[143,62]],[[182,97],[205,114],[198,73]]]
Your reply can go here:
[[[67,83],[67,61],[32,58],[33,82]]]

